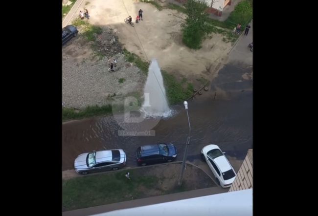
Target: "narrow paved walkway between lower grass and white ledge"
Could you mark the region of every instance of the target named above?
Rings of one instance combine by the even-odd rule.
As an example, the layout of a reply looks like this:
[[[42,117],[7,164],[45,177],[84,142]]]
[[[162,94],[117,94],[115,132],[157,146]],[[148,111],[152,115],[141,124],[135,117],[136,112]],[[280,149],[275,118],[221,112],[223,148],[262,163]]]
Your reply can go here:
[[[152,196],[152,197],[143,198],[143,199],[136,199],[131,201],[118,202],[118,203],[113,203],[108,205],[63,212],[62,216],[90,216],[90,215],[110,212],[110,211],[119,210],[119,209],[134,208],[139,206],[146,206],[146,205],[158,204],[163,202],[171,202],[171,201],[188,199],[188,198],[199,197],[199,196],[227,193],[228,190],[229,188],[223,189],[221,187],[213,187],[213,188],[204,188],[204,189],[199,189],[194,191],[186,191],[186,192],[181,192],[176,194]]]

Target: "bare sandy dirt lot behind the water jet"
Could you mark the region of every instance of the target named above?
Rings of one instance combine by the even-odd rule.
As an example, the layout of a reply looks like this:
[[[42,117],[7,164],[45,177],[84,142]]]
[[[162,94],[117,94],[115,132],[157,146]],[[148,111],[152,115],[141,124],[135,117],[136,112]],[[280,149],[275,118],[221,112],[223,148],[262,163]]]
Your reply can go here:
[[[83,1],[78,12],[84,7],[90,12],[91,24],[113,28],[128,51],[145,61],[158,59],[159,66],[169,73],[189,79],[203,76],[211,80],[220,69],[220,63],[227,61],[231,43],[223,42],[222,35],[212,34],[200,50],[185,47],[182,44],[182,19],[179,18],[184,18],[184,15],[176,10],[159,11],[154,5],[139,0],[108,0],[107,3],[87,0]],[[143,21],[135,23],[135,27],[126,24],[124,19],[129,15],[135,22],[139,9],[144,11]]]

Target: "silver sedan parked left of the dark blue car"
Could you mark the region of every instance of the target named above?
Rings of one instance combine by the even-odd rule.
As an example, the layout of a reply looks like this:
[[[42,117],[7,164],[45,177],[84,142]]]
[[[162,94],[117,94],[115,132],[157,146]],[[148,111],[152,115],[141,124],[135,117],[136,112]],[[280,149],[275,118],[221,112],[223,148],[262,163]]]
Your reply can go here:
[[[107,170],[118,170],[125,165],[126,153],[122,149],[80,154],[74,162],[75,172],[84,175]]]

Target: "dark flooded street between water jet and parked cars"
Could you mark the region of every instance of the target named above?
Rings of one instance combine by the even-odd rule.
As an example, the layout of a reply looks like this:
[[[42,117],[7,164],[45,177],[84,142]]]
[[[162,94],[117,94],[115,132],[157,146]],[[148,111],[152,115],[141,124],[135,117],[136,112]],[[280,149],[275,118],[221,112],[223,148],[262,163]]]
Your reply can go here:
[[[122,128],[114,116],[63,124],[62,170],[74,169],[74,159],[81,153],[117,148],[126,151],[127,167],[135,167],[137,147],[158,142],[175,144],[177,160],[182,161],[188,122],[183,105],[172,109],[173,117],[144,123],[153,123],[150,130],[155,131],[155,136],[120,136],[118,130]],[[192,130],[187,160],[207,167],[200,160],[201,149],[216,144],[226,152],[237,172],[253,146],[252,68],[225,65],[208,91],[188,101],[188,112]]]

